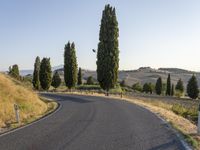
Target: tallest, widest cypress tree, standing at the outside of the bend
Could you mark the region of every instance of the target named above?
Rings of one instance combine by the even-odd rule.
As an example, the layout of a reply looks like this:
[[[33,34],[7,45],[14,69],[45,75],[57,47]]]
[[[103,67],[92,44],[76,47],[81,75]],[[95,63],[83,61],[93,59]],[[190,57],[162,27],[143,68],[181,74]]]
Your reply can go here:
[[[97,52],[97,79],[101,88],[114,88],[119,68],[119,28],[115,8],[106,5],[102,13]]]

